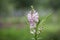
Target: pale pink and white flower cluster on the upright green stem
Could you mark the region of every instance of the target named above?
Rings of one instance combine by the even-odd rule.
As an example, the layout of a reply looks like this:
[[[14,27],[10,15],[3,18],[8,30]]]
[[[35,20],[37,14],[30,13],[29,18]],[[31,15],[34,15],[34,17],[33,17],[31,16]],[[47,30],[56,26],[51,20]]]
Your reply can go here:
[[[34,11],[30,11],[27,15],[28,21],[30,23],[30,28],[35,28],[36,27],[36,23],[39,21],[39,16],[38,16],[38,12]]]

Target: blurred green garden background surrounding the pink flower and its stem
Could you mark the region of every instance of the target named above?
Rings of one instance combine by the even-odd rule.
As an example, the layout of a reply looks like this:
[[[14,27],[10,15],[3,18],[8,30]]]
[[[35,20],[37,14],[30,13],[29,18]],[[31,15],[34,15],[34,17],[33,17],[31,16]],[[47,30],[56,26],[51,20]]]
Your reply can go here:
[[[25,15],[31,5],[44,23],[41,40],[60,40],[60,0],[0,0],[0,40],[32,40]]]

